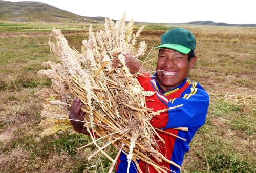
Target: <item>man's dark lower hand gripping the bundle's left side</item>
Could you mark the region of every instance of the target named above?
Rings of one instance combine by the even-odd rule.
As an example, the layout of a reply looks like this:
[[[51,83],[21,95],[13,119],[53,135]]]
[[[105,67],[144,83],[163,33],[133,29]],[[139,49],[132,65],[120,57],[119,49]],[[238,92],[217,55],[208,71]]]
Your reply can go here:
[[[81,110],[82,105],[83,104],[81,103],[80,99],[75,98],[69,110],[69,118],[75,131],[83,134],[88,134],[87,129],[83,128],[84,122],[81,122],[84,121],[84,112]]]

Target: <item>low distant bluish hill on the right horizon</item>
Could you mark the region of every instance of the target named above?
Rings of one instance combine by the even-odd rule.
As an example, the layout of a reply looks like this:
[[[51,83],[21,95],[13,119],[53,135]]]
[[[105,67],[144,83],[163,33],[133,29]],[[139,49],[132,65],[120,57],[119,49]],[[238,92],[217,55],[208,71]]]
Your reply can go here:
[[[227,24],[227,23],[223,23],[223,22],[214,22],[214,21],[191,21],[191,22],[179,23],[179,24],[256,27],[256,24]]]

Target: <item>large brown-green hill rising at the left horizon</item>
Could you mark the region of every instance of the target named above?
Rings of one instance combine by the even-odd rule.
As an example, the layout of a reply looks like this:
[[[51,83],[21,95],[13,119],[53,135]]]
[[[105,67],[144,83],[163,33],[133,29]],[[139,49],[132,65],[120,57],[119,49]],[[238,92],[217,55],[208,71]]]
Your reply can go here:
[[[83,17],[41,2],[10,2],[0,0],[1,20],[65,22],[97,21],[97,18]]]

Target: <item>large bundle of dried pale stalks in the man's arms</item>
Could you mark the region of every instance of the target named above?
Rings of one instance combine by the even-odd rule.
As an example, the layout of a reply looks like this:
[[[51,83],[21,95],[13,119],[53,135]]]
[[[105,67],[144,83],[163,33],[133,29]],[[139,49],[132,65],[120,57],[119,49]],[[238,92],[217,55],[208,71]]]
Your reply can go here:
[[[60,63],[46,62],[46,66],[50,69],[39,72],[53,81],[52,90],[55,98],[64,103],[62,105],[66,105],[59,109],[62,110],[62,114],[68,113],[67,105],[71,105],[74,98],[79,98],[84,104],[81,109],[85,113],[84,128],[88,130],[92,142],[78,149],[94,144],[98,150],[88,159],[101,152],[113,162],[110,171],[113,170],[122,149],[129,153],[127,156],[129,164],[134,161],[139,172],[141,170],[136,158],[152,165],[157,172],[169,171],[169,168],[155,163],[150,157],[151,154],[158,162],[165,161],[180,168],[158,152],[156,139],[163,144],[165,141],[149,120],[155,115],[182,105],[157,112],[142,106],[146,101],[154,100],[146,100],[145,91],[136,79],[138,75],[143,74],[131,75],[122,55],[122,53],[131,53],[135,57],[144,55],[145,42],[140,42],[137,47],[136,41],[143,28],[141,27],[136,34],[133,34],[133,21],[125,25],[125,15],[116,24],[111,19],[105,19],[104,31],[94,34],[90,26],[89,38],[82,41],[81,53],[71,49],[60,30],[54,28],[53,35],[57,42],[49,44]],[[113,53],[118,55],[121,63],[116,68],[112,67]],[[99,138],[95,139],[95,136]],[[172,134],[172,136],[175,135]],[[97,141],[101,139],[108,139],[111,142],[100,147]],[[119,148],[114,160],[103,151],[111,144]]]

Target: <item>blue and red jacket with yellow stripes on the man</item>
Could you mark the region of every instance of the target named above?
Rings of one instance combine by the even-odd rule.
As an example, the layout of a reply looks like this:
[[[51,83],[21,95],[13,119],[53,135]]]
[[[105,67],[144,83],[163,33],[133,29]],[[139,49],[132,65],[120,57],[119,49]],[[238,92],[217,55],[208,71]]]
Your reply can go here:
[[[205,123],[209,106],[209,95],[199,83],[188,79],[185,79],[180,85],[168,91],[163,91],[159,87],[157,79],[150,78],[149,75],[140,76],[137,79],[145,91],[156,92],[154,96],[147,97],[148,100],[154,100],[154,102],[146,102],[147,107],[153,108],[154,111],[183,104],[182,107],[161,113],[150,121],[153,127],[186,139],[186,141],[183,141],[166,133],[158,132],[165,140],[165,144],[159,143],[159,152],[166,156],[167,159],[181,165],[184,154],[189,150],[188,144],[196,131]],[[174,129],[177,127],[187,127],[188,131]],[[152,159],[154,160],[154,158]],[[143,172],[156,172],[151,165],[147,165],[143,161],[138,161],[138,163]],[[172,171],[180,172],[178,167],[169,163],[158,164]],[[121,153],[118,159],[116,172],[127,172],[127,158],[124,152]],[[129,172],[137,172],[135,163],[131,164]]]

